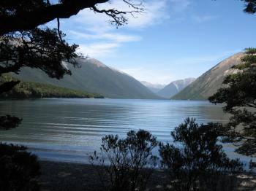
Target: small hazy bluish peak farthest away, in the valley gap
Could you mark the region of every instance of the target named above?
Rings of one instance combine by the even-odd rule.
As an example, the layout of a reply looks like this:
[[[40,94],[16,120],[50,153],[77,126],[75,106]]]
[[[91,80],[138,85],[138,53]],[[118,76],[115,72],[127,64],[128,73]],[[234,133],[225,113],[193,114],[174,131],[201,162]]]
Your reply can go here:
[[[157,92],[157,95],[163,98],[170,98],[173,95],[176,95],[178,92],[183,90],[189,84],[195,81],[195,78],[187,78],[187,79],[180,79],[174,82],[170,82],[170,84],[166,85],[162,90]]]

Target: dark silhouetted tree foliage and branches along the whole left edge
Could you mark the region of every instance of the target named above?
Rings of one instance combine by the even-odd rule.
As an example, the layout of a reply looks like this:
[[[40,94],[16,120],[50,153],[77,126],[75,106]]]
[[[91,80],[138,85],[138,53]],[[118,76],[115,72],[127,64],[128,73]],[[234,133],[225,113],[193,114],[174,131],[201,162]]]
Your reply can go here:
[[[2,0],[0,1],[0,77],[2,74],[15,72],[18,74],[23,67],[41,69],[49,77],[61,79],[65,74],[71,74],[65,63],[71,63],[78,67],[76,58],[81,57],[76,50],[77,44],[69,45],[65,40],[65,34],[60,30],[60,19],[76,15],[81,9],[108,15],[112,18],[110,23],[117,27],[127,23],[125,14],[133,14],[143,10],[142,4],[135,4],[132,0],[123,0],[124,4],[131,7],[129,12],[118,9],[99,9],[98,5],[110,2],[110,0]],[[51,20],[57,20],[56,28],[43,26]],[[0,93],[7,92],[19,83],[18,80],[0,82]],[[16,128],[21,119],[15,116],[0,117],[0,130]],[[8,182],[0,182],[4,190],[30,190],[28,186],[31,174],[27,171],[33,170],[26,165],[27,161],[37,158],[26,152],[26,148],[12,147],[0,143],[1,168],[0,179]],[[12,152],[8,152],[12,151]],[[18,157],[18,161],[12,160]],[[5,160],[5,159],[8,160]],[[10,159],[10,160],[9,160]],[[16,171],[16,168],[20,171]],[[34,169],[35,170],[35,169]],[[18,176],[7,176],[8,174],[20,175],[20,185],[14,187]],[[21,179],[25,177],[24,179]],[[8,179],[6,179],[8,177]],[[9,185],[9,186],[8,186]],[[0,189],[1,190],[1,189]]]

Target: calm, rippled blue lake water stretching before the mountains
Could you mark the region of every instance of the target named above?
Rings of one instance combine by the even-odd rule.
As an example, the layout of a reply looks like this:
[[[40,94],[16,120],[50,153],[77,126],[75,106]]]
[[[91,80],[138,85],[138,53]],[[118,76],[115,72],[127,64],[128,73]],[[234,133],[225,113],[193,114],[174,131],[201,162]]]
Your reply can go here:
[[[159,141],[171,141],[170,131],[186,117],[197,122],[227,122],[222,106],[207,101],[68,99],[0,101],[0,114],[23,118],[13,130],[0,132],[0,141],[29,147],[41,160],[86,163],[102,136],[129,130],[149,130]],[[232,147],[225,147],[230,157]],[[243,157],[242,160],[249,160]]]

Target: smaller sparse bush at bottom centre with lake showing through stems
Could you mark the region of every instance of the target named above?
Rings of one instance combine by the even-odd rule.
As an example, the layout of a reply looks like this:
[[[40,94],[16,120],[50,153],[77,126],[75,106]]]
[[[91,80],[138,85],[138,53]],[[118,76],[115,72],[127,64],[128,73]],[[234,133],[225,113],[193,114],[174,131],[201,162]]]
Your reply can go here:
[[[102,138],[101,152],[89,161],[99,168],[99,177],[108,190],[145,190],[149,176],[157,165],[152,150],[157,139],[146,130],[127,133],[125,139],[108,135]]]

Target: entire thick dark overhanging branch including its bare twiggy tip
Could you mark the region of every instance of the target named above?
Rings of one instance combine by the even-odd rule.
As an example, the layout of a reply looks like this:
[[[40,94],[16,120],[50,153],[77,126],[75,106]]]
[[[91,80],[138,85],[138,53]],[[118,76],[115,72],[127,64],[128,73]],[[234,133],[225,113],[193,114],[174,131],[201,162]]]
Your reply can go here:
[[[0,15],[0,36],[9,32],[28,31],[42,24],[48,23],[56,18],[69,18],[72,15],[77,15],[82,9],[93,8],[96,4],[106,3],[109,0],[65,0],[59,4],[45,4],[45,6],[36,7],[31,11],[18,12],[14,15]],[[141,12],[142,4],[134,4],[132,1],[123,0],[125,4],[134,9],[132,12]],[[98,9],[94,9],[98,12]],[[127,22],[123,17],[118,20],[116,15],[125,14],[127,12],[112,9],[112,11],[104,11],[108,16],[113,18],[113,23],[120,26]]]

